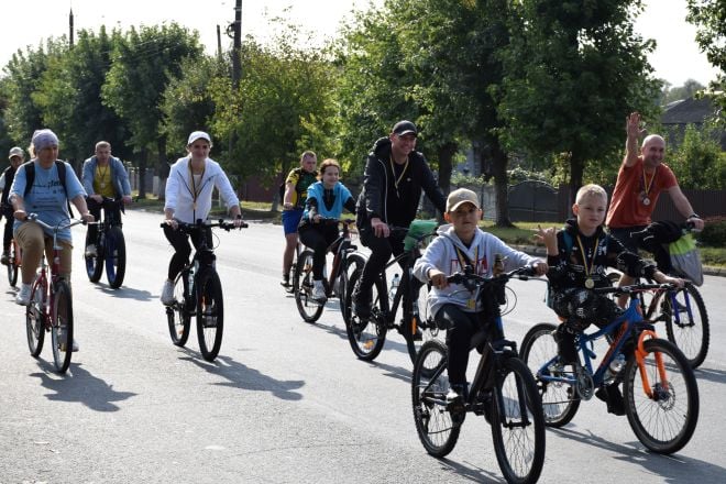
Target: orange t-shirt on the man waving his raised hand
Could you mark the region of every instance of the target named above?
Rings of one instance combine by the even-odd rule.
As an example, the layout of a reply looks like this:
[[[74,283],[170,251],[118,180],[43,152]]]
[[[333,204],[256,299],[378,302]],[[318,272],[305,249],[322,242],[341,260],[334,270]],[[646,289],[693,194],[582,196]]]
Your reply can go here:
[[[646,183],[650,184],[648,194]],[[638,156],[636,164],[629,168],[622,164],[605,224],[610,229],[649,224],[660,193],[676,185],[675,175],[663,163],[656,167],[652,183],[650,176],[644,177],[642,156]],[[644,204],[646,197],[650,200],[648,205]]]

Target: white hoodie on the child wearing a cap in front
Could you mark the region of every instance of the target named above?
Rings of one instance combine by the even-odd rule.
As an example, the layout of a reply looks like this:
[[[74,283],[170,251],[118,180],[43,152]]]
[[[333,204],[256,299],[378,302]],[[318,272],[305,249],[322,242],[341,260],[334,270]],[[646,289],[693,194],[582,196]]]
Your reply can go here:
[[[425,283],[429,280],[428,273],[431,268],[438,268],[447,276],[463,270],[454,248],[459,248],[461,252],[466,254],[472,265],[476,267],[476,274],[483,276],[492,275],[494,254],[502,254],[505,271],[532,265],[539,261],[524,252],[515,251],[497,237],[481,229],[476,229],[474,240],[469,249],[459,239],[453,226],[441,226],[438,233],[439,237],[433,239],[424,255],[414,265],[414,275]],[[462,263],[465,264],[466,262],[462,261]],[[473,311],[481,311],[482,305],[479,302],[479,297],[476,296],[476,294],[470,293],[461,284],[449,284],[444,289],[432,287],[428,297],[429,310],[436,316],[441,306],[454,304],[460,306],[464,311],[472,312],[472,309],[468,308],[466,302],[474,298],[476,300],[476,308]]]

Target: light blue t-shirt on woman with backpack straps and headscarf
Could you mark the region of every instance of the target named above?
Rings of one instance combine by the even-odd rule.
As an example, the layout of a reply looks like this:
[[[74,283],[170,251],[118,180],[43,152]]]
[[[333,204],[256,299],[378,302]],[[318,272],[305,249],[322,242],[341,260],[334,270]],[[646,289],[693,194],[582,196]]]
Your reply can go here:
[[[23,197],[25,201],[25,212],[26,213],[37,213],[37,218],[48,226],[58,226],[64,222],[67,222],[70,219],[68,213],[68,200],[76,198],[79,195],[86,196],[86,190],[84,190],[80,180],[76,176],[76,173],[73,170],[69,164],[66,163],[66,188],[68,190],[68,198],[66,198],[66,193],[61,185],[61,178],[58,178],[58,168],[55,166],[55,163],[50,168],[42,168],[36,160],[33,161],[35,164],[35,179],[33,180],[33,186],[31,187],[28,196],[25,194],[25,165],[21,165],[15,173],[15,178],[12,182],[12,187],[10,188],[10,196],[19,195]],[[65,163],[65,162],[63,162]],[[23,223],[20,220],[15,220],[13,224],[13,230],[18,230],[20,224]],[[45,233],[48,237],[52,237],[53,233],[45,230]],[[64,229],[58,232],[58,240],[64,240],[70,242],[73,239],[70,237],[70,229]]]

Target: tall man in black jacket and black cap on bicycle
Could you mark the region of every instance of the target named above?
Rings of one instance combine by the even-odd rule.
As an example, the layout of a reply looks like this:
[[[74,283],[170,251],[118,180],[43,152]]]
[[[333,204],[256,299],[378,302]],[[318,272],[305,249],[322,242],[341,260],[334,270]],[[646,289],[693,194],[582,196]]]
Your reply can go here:
[[[361,319],[371,316],[372,287],[392,254],[404,252],[405,233],[391,234],[388,224],[409,227],[416,218],[421,190],[443,213],[447,199],[437,186],[431,168],[416,148],[418,130],[410,121],[399,121],[387,138],[373,144],[358,198],[356,226],[361,243],[371,256],[353,293],[353,310]],[[411,294],[417,294],[414,287]]]

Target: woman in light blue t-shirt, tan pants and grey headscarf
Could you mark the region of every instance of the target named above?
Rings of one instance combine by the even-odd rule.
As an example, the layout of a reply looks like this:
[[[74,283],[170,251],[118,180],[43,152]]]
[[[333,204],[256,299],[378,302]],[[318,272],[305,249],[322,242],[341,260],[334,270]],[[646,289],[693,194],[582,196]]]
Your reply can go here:
[[[15,218],[13,234],[23,251],[22,284],[15,297],[15,302],[22,306],[30,304],[31,284],[41,263],[43,250],[46,257],[53,254],[52,234],[38,223],[28,220],[28,215],[36,213],[38,220],[55,227],[70,219],[70,200],[85,221],[94,221],[94,216],[88,212],[86,206],[86,191],[78,177],[68,163],[58,160],[58,136],[47,129],[35,131],[29,152],[31,161],[18,168],[9,197]],[[70,280],[70,229],[58,232],[58,242],[63,248],[61,276]]]

